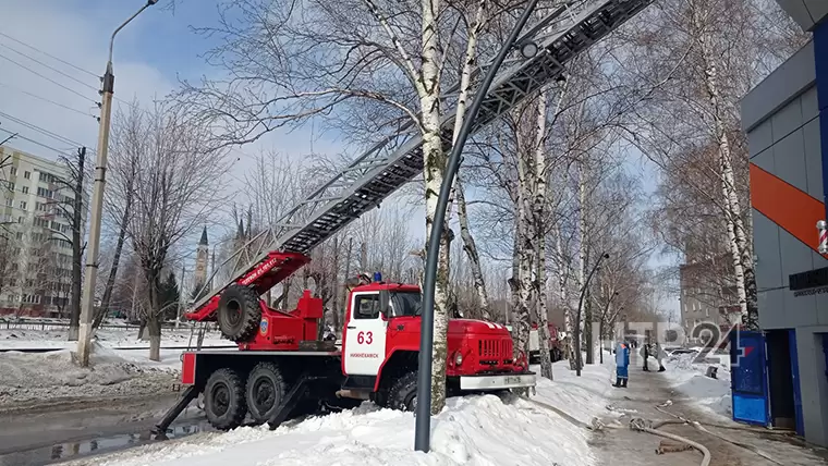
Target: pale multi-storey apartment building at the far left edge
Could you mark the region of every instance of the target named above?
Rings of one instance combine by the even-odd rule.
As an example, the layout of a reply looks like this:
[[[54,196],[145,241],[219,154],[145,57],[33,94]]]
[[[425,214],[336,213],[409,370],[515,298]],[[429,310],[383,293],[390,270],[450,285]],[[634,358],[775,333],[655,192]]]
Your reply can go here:
[[[65,163],[0,146],[0,315],[65,316],[74,206]]]

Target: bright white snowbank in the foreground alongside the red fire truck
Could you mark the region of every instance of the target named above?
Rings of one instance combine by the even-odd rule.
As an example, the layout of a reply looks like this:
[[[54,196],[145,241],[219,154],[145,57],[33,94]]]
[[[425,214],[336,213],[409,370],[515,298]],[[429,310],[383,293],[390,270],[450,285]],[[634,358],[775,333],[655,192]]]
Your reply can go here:
[[[541,381],[533,398],[585,424],[607,416],[610,366],[589,366],[582,378],[555,365],[555,381]],[[449,400],[431,421],[431,451],[416,453],[414,416],[364,403],[356,409],[275,431],[245,427],[96,457],[97,465],[479,465],[590,466],[589,431],[555,412],[520,398],[494,395]],[[81,464],[81,463],[76,463]]]

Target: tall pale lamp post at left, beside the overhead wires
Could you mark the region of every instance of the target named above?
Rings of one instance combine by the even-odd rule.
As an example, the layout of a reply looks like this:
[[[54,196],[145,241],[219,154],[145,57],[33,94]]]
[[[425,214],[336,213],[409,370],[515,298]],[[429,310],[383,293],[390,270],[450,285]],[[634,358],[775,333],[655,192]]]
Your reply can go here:
[[[77,338],[77,358],[81,366],[89,364],[92,321],[95,315],[95,281],[97,280],[98,256],[100,254],[100,221],[104,213],[104,188],[107,184],[109,123],[112,115],[112,95],[115,87],[115,75],[112,73],[112,47],[114,46],[115,35],[134,20],[135,16],[156,3],[158,3],[158,0],[147,0],[144,7],[118,26],[109,39],[109,58],[100,93],[100,127],[98,128],[98,155],[95,160],[95,184],[92,193],[92,207],[89,209],[89,243],[86,252],[86,275],[84,277],[84,289],[81,298],[81,328]]]

